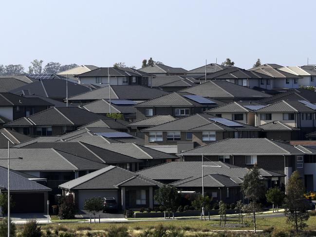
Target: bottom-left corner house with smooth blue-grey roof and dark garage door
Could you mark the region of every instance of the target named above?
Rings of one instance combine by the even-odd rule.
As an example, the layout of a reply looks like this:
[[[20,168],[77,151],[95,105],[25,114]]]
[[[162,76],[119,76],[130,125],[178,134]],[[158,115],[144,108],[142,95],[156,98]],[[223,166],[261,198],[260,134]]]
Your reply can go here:
[[[15,205],[11,213],[47,213],[49,187],[21,176],[10,169],[10,196]],[[0,194],[8,192],[8,170],[0,166]]]

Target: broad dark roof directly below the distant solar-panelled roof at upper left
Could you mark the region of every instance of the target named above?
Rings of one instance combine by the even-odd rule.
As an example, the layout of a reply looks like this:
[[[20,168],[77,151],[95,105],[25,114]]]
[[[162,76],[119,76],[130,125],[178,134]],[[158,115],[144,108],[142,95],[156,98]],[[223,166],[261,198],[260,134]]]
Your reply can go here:
[[[40,95],[48,98],[66,98],[66,80],[53,79],[41,80],[26,84],[16,88],[10,92],[23,95]],[[73,82],[68,82],[68,97],[81,94],[92,89],[86,86],[78,85]]]

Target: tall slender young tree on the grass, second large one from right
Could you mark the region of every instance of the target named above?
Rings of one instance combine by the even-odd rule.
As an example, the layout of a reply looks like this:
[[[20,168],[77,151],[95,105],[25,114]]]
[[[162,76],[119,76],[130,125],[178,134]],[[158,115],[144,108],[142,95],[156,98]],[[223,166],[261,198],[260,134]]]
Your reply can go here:
[[[243,177],[242,192],[245,198],[249,200],[249,204],[245,210],[251,210],[254,222],[254,231],[256,233],[256,212],[259,209],[257,201],[264,197],[265,185],[260,179],[260,172],[257,164]]]

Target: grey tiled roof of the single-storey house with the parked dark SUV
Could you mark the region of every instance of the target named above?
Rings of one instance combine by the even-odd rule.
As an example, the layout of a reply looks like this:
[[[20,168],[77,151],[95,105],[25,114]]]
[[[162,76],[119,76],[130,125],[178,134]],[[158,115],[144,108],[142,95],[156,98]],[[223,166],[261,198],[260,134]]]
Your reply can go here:
[[[132,180],[136,182],[132,183]],[[106,181],[106,182],[105,182]],[[139,174],[117,166],[107,166],[87,175],[59,185],[60,188],[71,189],[118,189],[120,186],[161,186],[160,182],[150,180]]]

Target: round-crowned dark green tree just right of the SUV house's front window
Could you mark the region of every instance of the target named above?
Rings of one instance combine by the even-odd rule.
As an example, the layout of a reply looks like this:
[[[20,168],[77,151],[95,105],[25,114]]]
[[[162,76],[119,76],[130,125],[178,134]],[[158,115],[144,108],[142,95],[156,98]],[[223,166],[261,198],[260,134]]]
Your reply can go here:
[[[166,211],[168,212],[168,218],[170,218],[170,211],[176,210],[180,204],[181,194],[175,187],[164,185],[158,189],[154,199],[164,208],[165,219]]]

